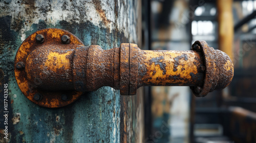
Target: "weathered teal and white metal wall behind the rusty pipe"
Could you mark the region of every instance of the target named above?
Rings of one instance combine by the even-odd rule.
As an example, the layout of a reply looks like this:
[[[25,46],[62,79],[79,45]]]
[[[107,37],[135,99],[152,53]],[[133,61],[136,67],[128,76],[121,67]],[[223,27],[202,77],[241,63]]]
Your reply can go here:
[[[2,95],[8,83],[8,142],[142,142],[142,95],[120,96],[118,90],[103,87],[66,107],[40,107],[20,92],[13,65],[26,37],[48,27],[67,30],[86,46],[110,49],[129,42],[141,46],[140,0],[6,0],[0,7],[1,141],[5,129]]]

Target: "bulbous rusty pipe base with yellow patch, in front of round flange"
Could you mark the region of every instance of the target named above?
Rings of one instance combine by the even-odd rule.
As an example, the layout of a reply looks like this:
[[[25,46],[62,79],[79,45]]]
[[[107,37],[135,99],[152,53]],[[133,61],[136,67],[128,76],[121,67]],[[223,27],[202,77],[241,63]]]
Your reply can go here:
[[[59,84],[62,89],[73,89],[72,57],[73,49],[60,49],[58,46],[34,50],[28,55],[25,64],[27,79],[43,89],[55,89]],[[53,82],[59,80],[65,84]]]

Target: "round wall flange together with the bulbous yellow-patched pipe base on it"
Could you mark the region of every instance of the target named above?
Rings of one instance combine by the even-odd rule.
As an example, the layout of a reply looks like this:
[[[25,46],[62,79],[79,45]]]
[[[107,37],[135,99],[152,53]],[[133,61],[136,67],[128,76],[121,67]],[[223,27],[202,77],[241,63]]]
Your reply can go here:
[[[44,36],[44,41],[38,42],[38,35]],[[62,43],[63,35],[70,37],[69,44]],[[71,91],[71,66],[74,49],[81,46],[84,45],[77,37],[57,28],[30,35],[15,56],[14,65],[25,63],[25,69],[14,68],[19,89],[29,100],[44,107],[62,107],[74,102],[82,92]],[[62,92],[56,92],[59,90]],[[36,94],[41,95],[40,100]],[[68,100],[62,100],[62,94],[67,95]]]

